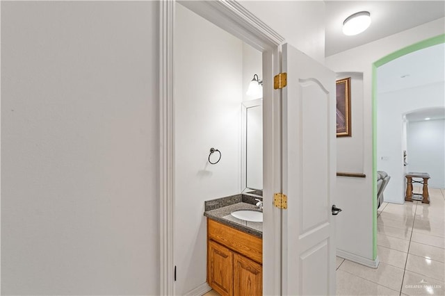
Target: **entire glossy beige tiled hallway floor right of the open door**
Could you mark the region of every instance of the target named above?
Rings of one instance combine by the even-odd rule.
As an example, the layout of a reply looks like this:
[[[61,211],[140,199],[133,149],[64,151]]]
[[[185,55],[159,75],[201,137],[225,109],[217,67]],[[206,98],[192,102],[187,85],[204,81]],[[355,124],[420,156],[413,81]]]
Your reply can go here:
[[[380,206],[380,265],[337,257],[337,295],[445,295],[445,190],[429,191],[430,204]]]

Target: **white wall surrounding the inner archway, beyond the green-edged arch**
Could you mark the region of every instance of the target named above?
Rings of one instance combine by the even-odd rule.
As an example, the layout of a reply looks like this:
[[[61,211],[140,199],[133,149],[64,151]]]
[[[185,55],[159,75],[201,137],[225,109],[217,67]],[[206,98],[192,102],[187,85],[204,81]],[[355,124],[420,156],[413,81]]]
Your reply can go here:
[[[405,202],[405,168],[414,170],[411,165],[403,167],[403,115],[421,108],[445,106],[444,97],[444,82],[378,94],[377,167],[391,176],[385,202]],[[410,163],[409,149],[407,154]]]

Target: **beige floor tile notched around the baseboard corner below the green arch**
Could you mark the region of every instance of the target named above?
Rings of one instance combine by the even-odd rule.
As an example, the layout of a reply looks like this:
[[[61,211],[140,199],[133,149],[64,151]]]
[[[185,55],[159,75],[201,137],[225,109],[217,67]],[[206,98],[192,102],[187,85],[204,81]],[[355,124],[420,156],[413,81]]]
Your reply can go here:
[[[369,268],[345,260],[343,264],[341,264],[339,270],[349,272],[357,277],[362,277],[363,279],[378,283],[379,285],[392,290],[400,290],[403,280],[403,269],[385,263],[380,263],[378,268]]]

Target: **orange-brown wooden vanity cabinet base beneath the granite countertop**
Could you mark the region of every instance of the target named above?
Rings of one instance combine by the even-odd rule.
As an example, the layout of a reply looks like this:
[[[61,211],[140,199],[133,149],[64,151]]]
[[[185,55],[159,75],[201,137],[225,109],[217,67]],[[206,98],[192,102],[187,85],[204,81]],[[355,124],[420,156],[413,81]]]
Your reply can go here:
[[[223,296],[263,294],[261,238],[207,219],[207,283]]]

